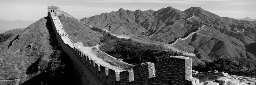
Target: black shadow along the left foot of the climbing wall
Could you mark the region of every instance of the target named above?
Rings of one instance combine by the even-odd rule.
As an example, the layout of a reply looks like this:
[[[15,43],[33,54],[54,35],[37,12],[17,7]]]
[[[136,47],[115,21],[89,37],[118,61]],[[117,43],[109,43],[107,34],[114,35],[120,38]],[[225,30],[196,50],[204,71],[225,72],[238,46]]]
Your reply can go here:
[[[73,75],[73,62],[70,59],[70,56],[68,56],[68,54],[66,54],[59,45],[52,27],[51,20],[48,17],[44,18],[47,19],[46,28],[49,33],[49,45],[52,46],[52,49],[55,51],[51,56],[49,56],[51,60],[48,61],[48,63],[45,63],[48,66],[47,68],[41,69],[40,67],[38,67],[40,62],[42,63],[41,58],[39,58],[39,60],[37,60],[31,66],[29,66],[26,74],[33,75],[37,73],[39,70],[41,71],[41,73],[30,78],[21,85],[73,85],[75,83],[75,77]],[[56,52],[59,52],[59,54]],[[61,62],[57,64],[64,65],[63,68],[56,68],[55,65],[57,64],[52,60]]]

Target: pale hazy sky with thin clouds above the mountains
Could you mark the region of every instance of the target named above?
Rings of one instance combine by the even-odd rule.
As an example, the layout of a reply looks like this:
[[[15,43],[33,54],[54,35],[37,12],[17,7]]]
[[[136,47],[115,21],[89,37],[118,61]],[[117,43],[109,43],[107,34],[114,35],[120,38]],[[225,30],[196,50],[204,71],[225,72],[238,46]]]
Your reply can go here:
[[[256,19],[256,0],[0,0],[0,19],[37,21],[47,16],[47,6],[59,6],[77,19],[118,11],[121,7],[157,11],[168,6],[181,11],[201,7],[221,17]]]

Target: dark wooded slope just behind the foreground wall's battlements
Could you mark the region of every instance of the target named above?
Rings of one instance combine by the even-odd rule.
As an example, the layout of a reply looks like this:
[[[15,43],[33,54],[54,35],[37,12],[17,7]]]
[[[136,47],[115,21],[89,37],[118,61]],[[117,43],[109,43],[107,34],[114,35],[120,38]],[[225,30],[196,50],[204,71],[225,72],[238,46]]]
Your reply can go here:
[[[122,59],[129,64],[137,65],[144,62],[157,63],[157,60],[182,55],[171,49],[166,49],[163,46],[156,46],[153,44],[143,44],[132,41],[131,39],[119,39],[110,33],[102,31],[99,28],[92,28],[92,30],[100,32],[101,51],[108,53],[116,58]]]

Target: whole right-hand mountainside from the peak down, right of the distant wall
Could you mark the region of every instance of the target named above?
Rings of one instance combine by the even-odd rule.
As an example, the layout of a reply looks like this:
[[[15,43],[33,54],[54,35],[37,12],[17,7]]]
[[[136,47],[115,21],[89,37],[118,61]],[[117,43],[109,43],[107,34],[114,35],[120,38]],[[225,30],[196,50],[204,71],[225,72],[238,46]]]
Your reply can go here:
[[[193,36],[191,41],[182,42],[182,45],[189,43],[195,48],[194,53],[197,57],[202,60],[209,60],[207,57],[228,56],[247,68],[255,69],[255,55],[245,51],[245,45],[255,42],[255,22],[222,18],[200,7],[190,7],[184,12],[195,15],[189,21],[200,22],[207,27]]]

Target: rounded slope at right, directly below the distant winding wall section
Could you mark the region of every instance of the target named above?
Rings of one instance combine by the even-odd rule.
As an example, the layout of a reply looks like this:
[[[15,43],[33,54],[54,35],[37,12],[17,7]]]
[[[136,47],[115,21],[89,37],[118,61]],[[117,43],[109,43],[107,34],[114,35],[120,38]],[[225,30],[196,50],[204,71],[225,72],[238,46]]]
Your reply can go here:
[[[193,35],[191,40],[185,41],[186,44],[195,48],[194,53],[199,54],[197,55],[198,58],[211,61],[216,57],[231,57],[247,68],[255,68],[256,64],[253,62],[256,62],[256,57],[253,54],[244,51],[245,44],[240,40],[218,32],[214,28],[208,26],[205,26],[203,29],[205,30]],[[181,42],[178,42],[177,44],[181,44]]]

